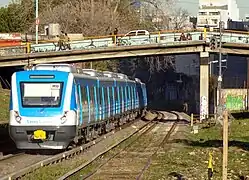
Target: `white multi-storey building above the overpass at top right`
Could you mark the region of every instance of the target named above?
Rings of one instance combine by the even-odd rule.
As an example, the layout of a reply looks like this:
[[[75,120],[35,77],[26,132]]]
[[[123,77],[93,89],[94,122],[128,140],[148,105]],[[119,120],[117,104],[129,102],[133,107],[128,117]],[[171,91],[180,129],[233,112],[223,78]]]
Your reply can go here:
[[[227,28],[228,19],[239,20],[236,0],[199,0],[198,28],[204,26],[219,28],[220,21],[223,21],[224,28]]]

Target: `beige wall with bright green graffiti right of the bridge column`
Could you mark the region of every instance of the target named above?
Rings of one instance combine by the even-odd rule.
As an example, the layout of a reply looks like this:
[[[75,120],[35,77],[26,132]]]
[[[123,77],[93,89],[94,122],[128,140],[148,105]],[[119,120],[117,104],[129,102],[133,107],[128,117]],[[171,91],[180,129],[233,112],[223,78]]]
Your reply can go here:
[[[223,89],[222,102],[230,111],[247,109],[247,89]]]

